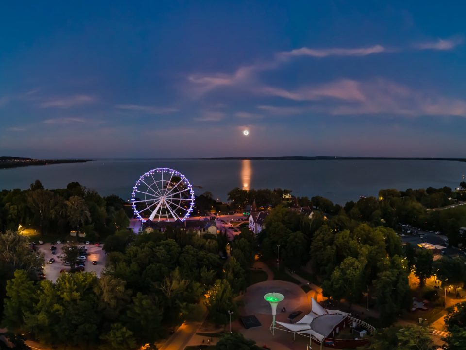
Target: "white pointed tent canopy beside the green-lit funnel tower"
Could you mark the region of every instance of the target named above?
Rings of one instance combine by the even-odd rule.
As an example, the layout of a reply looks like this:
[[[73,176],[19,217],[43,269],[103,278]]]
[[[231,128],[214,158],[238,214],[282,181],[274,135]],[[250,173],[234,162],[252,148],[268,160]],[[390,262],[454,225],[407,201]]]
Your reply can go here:
[[[311,339],[315,339],[322,343],[325,338],[333,335],[339,331],[339,326],[345,327],[345,320],[349,316],[349,313],[340,310],[327,310],[320,305],[314,298],[311,298],[311,312],[304,315],[296,323],[276,322],[280,326],[275,327],[278,330],[292,332],[293,340],[295,334],[309,336],[309,342]]]

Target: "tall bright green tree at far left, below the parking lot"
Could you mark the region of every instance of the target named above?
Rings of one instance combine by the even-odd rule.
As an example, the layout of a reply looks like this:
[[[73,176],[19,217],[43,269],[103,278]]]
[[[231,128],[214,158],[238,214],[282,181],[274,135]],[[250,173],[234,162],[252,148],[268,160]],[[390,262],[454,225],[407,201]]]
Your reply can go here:
[[[7,282],[5,300],[5,323],[10,330],[17,331],[35,303],[35,286],[24,270],[16,270],[15,277]]]

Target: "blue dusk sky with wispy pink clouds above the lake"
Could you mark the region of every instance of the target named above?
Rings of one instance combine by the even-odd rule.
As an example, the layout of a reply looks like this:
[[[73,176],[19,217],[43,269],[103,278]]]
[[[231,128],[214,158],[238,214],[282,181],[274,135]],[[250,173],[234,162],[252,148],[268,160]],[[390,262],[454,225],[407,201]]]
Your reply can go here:
[[[465,157],[465,11],[1,4],[0,155]]]

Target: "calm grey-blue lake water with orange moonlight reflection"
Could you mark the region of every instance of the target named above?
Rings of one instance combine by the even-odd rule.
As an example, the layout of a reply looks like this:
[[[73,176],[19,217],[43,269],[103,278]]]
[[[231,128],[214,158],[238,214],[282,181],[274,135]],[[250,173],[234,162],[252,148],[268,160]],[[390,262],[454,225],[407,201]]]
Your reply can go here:
[[[430,160],[122,160],[0,169],[0,190],[21,188],[39,179],[46,188],[63,188],[77,181],[101,195],[127,200],[140,175],[167,167],[183,173],[195,194],[210,191],[227,199],[234,187],[281,187],[292,194],[321,195],[334,203],[377,196],[379,189],[456,187],[466,174],[466,162]]]

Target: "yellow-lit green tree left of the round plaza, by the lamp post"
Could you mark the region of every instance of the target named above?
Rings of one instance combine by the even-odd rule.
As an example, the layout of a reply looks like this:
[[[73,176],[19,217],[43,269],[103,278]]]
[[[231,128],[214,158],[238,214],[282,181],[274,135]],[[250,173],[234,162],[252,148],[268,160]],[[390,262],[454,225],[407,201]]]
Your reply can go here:
[[[206,293],[207,310],[209,318],[216,324],[226,324],[228,311],[236,311],[233,302],[233,292],[227,280],[216,280],[214,286]]]

